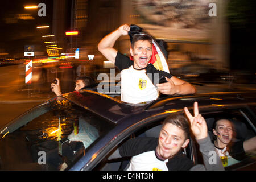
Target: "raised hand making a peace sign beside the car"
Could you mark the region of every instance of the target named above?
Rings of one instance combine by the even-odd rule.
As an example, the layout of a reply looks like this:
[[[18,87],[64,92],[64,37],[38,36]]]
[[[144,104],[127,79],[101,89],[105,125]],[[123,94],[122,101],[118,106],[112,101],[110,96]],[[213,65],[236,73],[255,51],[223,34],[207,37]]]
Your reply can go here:
[[[198,103],[194,102],[194,116],[188,111],[187,107],[184,107],[185,114],[187,115],[191,130],[196,139],[203,139],[207,137],[207,123],[205,122],[204,117],[199,114]]]

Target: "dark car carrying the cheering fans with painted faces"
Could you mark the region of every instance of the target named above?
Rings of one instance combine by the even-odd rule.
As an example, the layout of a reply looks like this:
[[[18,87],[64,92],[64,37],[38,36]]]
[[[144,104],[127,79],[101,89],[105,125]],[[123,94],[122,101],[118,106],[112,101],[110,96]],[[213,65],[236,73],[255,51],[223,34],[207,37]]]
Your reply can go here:
[[[199,102],[212,137],[216,115],[232,118],[236,140],[256,134],[255,92],[217,92],[168,96],[142,104],[127,104],[118,95],[93,90],[71,92],[20,115],[0,130],[1,170],[119,170],[128,158],[108,160],[119,145],[151,133],[170,114],[184,114]],[[183,151],[195,164],[203,163],[191,136]],[[255,151],[226,170],[256,169]]]

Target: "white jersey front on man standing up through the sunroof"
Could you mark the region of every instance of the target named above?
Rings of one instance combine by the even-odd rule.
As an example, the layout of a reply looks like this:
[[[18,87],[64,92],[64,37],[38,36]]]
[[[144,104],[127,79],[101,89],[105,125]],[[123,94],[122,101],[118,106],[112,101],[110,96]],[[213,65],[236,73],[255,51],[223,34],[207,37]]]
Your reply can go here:
[[[121,100],[131,104],[152,101],[158,98],[158,90],[148,78],[146,70],[134,69],[131,65],[121,71]]]

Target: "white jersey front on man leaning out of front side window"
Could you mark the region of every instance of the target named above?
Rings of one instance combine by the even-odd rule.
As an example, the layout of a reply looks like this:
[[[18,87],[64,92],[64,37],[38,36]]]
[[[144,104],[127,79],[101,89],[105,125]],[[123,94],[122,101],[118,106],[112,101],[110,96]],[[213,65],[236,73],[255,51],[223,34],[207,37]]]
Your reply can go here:
[[[155,151],[144,152],[131,158],[127,171],[168,171],[166,160],[159,160],[155,156]]]

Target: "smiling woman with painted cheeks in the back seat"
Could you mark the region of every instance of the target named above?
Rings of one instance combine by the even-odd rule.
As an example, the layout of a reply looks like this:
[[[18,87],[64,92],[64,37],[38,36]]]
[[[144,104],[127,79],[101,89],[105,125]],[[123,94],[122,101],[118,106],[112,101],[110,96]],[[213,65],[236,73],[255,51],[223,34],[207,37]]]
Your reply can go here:
[[[228,119],[218,119],[213,124],[213,143],[223,166],[230,166],[245,158],[247,151],[256,150],[256,137],[233,142],[234,127]]]

